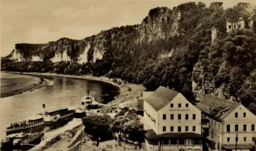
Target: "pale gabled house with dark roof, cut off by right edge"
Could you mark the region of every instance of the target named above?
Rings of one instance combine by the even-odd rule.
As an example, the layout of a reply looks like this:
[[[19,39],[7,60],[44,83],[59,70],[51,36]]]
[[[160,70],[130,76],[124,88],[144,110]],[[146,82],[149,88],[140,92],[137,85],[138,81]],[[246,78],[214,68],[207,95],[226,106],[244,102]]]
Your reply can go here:
[[[208,140],[218,150],[254,149],[256,116],[241,103],[206,95],[196,105],[209,121]]]

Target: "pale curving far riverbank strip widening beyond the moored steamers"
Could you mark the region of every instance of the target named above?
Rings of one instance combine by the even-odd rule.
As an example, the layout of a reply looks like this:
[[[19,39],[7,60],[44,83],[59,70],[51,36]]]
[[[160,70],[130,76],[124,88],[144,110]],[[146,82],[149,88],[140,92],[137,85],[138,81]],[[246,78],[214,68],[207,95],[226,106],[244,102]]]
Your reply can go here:
[[[20,72],[4,72],[12,74],[20,74]],[[34,77],[44,77],[44,78],[72,78],[72,79],[84,79],[92,81],[100,81],[112,84],[119,88],[120,94],[115,96],[114,100],[108,104],[119,103],[123,101],[129,101],[140,95],[140,92],[145,90],[143,85],[131,84],[122,81],[121,79],[109,79],[107,77],[93,77],[92,75],[69,75],[69,74],[56,74],[56,73],[37,73],[37,72],[23,72],[24,75],[31,75]]]

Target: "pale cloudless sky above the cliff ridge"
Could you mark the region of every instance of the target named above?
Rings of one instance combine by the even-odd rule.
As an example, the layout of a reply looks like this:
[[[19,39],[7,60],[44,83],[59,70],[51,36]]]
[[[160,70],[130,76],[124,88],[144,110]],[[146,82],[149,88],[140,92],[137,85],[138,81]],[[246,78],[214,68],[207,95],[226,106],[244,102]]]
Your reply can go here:
[[[137,24],[152,8],[173,8],[185,2],[190,1],[0,0],[0,55],[10,54],[15,43],[47,43],[62,37],[83,39],[102,30]],[[209,6],[221,1],[202,2]],[[226,1],[224,8],[238,2],[242,1]]]

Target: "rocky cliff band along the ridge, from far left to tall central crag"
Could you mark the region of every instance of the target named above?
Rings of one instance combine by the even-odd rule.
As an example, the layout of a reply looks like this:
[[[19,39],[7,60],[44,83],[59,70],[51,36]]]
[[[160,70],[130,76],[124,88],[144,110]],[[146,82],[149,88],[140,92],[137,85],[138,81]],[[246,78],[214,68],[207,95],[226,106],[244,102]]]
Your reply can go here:
[[[167,7],[152,9],[141,24],[102,31],[81,40],[61,38],[46,44],[19,43],[6,58],[15,61],[95,62],[112,47],[125,49],[125,43],[154,43],[178,35],[182,12]],[[125,42],[127,41],[127,42]],[[171,50],[169,50],[171,51]]]

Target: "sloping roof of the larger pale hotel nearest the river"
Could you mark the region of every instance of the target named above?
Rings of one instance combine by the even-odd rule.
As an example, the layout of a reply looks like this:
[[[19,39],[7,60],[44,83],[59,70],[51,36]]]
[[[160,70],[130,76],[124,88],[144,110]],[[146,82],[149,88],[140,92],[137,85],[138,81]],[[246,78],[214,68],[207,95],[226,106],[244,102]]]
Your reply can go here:
[[[145,98],[145,102],[150,104],[156,111],[159,111],[172,102],[178,94],[179,92],[175,90],[160,86],[155,92]]]

